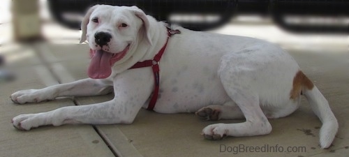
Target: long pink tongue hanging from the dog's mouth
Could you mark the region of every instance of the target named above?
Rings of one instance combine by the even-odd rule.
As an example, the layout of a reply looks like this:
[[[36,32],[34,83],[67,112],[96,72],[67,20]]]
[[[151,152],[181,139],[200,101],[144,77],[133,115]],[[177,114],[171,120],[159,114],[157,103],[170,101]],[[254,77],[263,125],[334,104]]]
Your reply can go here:
[[[102,50],[96,51],[96,54],[91,59],[89,64],[88,74],[93,79],[103,79],[109,77],[112,74],[112,67],[110,66],[110,59],[112,54],[103,52]]]

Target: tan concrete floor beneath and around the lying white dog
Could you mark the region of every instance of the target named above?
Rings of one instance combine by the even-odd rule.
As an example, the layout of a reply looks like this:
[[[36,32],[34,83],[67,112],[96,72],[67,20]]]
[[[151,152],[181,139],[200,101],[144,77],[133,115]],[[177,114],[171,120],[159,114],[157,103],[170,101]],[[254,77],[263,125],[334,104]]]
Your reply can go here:
[[[225,27],[221,31],[227,33],[227,30],[237,30],[239,27]],[[1,25],[0,35],[7,34],[9,29],[10,27]],[[314,38],[318,43],[304,43],[304,41],[297,43],[295,36],[286,35],[277,37],[280,39],[290,37],[294,41],[277,40],[278,38],[276,40],[288,49],[304,73],[322,91],[339,120],[339,133],[333,146],[329,149],[320,149],[318,146],[318,132],[321,123],[305,100],[302,100],[299,110],[289,117],[270,120],[273,126],[272,133],[258,137],[227,137],[224,140],[209,141],[200,135],[202,128],[218,122],[236,123],[239,121],[201,121],[194,114],[157,114],[147,110],[141,110],[131,125],[45,126],[31,131],[16,130],[10,124],[10,119],[17,114],[45,112],[67,105],[88,105],[112,98],[112,94],[84,98],[59,98],[50,102],[26,105],[15,105],[8,98],[10,94],[18,90],[40,89],[52,84],[72,82],[87,77],[89,47],[85,44],[75,44],[78,43],[79,32],[66,30],[62,37],[59,36],[62,33],[50,31],[52,27],[44,29],[50,39],[48,42],[31,45],[15,43],[0,45],[0,54],[9,61],[7,69],[17,74],[17,80],[14,82],[0,82],[0,125],[2,126],[0,128],[0,156],[301,157],[348,156],[349,154],[349,122],[347,121],[349,56],[348,49],[346,49],[348,45],[346,41],[334,42],[336,40],[324,40],[321,43],[316,36]],[[255,31],[254,37],[270,39],[270,36],[265,33],[263,35],[260,29],[240,28],[235,33],[240,32],[239,35],[244,35],[241,32],[246,31],[245,35],[248,36],[248,33],[251,33],[248,30]],[[218,33],[222,32],[218,31]],[[346,40],[347,37],[343,38]],[[308,37],[297,36],[297,38]],[[62,44],[62,41],[70,41],[70,43]],[[233,150],[221,152],[225,147],[236,149],[242,146],[275,147],[276,145],[282,147],[283,150],[279,149],[281,152],[236,152]],[[298,149],[298,151],[287,152],[288,147]]]

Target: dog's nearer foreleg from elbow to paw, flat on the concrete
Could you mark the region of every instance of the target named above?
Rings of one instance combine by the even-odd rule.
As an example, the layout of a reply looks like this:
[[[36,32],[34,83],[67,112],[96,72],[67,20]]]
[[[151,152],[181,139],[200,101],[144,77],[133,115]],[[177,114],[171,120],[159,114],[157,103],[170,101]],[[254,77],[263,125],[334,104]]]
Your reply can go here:
[[[93,105],[61,107],[57,110],[38,114],[20,114],[12,119],[12,123],[15,128],[20,130],[30,130],[47,125],[61,126],[63,124],[129,124],[133,121],[138,110],[132,105],[110,100]]]

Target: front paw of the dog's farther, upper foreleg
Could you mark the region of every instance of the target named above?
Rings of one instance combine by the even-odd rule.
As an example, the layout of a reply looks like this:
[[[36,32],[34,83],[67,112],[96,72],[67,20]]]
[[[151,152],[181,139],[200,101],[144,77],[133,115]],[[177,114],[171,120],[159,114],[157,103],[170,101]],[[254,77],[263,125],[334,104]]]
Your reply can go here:
[[[45,98],[46,94],[40,94],[39,89],[29,89],[24,91],[17,91],[11,94],[10,98],[14,103],[24,104],[24,103],[39,103]]]

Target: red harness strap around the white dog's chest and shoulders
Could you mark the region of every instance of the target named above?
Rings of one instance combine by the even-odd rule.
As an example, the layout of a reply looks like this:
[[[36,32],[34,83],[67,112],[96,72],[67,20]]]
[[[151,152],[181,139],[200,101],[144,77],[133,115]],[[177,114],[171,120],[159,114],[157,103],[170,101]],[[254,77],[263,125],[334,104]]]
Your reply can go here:
[[[175,33],[181,33],[181,31],[172,30],[169,27],[167,27],[167,29],[168,29],[168,38],[166,40],[166,43],[165,45],[163,45],[163,47],[158,52],[158,54],[155,55],[154,59],[137,62],[135,63],[135,65],[129,68],[129,69],[144,68],[148,66],[151,66],[151,68],[153,68],[155,85],[154,85],[153,96],[151,96],[147,110],[153,110],[156,104],[156,100],[158,99],[158,90],[160,88],[160,75],[159,75],[160,68],[158,67],[158,63],[161,59],[161,56],[163,56],[163,52],[165,52],[166,46],[168,45],[168,39]]]

